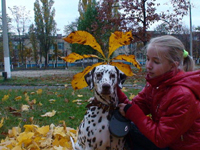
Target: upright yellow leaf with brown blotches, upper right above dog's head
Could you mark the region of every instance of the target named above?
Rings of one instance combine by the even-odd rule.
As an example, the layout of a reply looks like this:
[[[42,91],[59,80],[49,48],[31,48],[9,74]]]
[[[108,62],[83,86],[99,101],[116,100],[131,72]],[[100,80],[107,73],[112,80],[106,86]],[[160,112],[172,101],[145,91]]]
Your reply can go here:
[[[129,45],[131,41],[133,40],[132,37],[132,32],[120,32],[120,31],[115,31],[114,33],[111,34],[110,39],[109,39],[109,54],[108,58],[112,55],[112,53],[118,49],[119,47],[123,45]]]

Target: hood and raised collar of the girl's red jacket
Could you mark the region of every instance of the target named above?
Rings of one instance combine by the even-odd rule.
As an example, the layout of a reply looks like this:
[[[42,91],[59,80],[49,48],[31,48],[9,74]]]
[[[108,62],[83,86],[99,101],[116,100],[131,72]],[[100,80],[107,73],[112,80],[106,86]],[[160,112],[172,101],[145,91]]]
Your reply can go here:
[[[152,86],[185,86],[200,99],[200,70],[191,72],[170,71],[157,78],[149,79],[147,76],[146,79]]]

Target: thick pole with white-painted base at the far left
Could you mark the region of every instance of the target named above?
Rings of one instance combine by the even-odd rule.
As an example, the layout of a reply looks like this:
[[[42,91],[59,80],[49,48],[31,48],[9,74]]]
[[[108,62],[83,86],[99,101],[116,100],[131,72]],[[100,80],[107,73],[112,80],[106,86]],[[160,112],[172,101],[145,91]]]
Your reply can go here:
[[[11,78],[11,69],[10,69],[10,55],[9,55],[9,46],[8,46],[8,24],[6,17],[6,2],[2,0],[2,24],[3,24],[3,50],[4,50],[4,78]]]

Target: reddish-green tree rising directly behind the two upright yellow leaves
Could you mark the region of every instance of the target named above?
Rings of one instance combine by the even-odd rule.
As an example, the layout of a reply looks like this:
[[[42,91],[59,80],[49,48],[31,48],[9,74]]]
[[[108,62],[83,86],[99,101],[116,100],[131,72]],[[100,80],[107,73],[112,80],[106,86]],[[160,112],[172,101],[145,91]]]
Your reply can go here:
[[[98,12],[97,21],[92,25],[92,30],[104,54],[107,56],[109,37],[112,32],[119,30],[121,26],[119,2],[118,0],[99,1],[96,9]]]

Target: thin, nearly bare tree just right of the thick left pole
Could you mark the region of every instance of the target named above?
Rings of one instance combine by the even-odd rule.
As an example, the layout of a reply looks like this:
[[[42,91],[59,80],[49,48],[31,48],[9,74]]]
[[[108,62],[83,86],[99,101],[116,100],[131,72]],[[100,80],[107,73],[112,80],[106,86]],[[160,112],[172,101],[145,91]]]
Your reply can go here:
[[[14,29],[18,35],[18,49],[20,60],[24,63],[24,40],[30,23],[30,11],[26,10],[25,6],[13,6],[10,8],[12,13],[12,20],[14,21]]]

